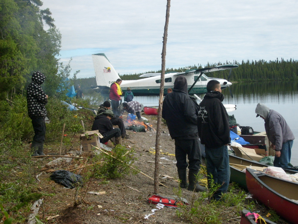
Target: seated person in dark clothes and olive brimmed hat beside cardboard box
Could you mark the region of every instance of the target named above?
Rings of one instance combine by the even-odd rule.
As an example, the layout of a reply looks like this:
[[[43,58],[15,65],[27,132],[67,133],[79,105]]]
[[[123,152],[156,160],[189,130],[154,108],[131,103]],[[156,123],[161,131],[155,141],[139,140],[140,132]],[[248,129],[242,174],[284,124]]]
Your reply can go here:
[[[107,142],[108,140],[115,137],[115,145],[122,144],[121,131],[119,128],[113,128],[111,119],[114,117],[112,110],[106,110],[94,118],[94,122],[91,131],[96,131],[103,135],[100,139],[101,143]]]

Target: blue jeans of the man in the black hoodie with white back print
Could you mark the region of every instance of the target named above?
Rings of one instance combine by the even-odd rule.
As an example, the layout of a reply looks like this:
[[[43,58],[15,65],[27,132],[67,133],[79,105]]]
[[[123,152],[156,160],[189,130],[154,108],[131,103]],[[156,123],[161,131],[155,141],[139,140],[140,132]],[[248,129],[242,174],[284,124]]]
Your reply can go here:
[[[221,185],[212,197],[215,200],[220,200],[221,194],[227,192],[230,182],[228,146],[223,145],[219,148],[207,148],[205,146],[205,153],[208,186],[211,187],[210,174],[212,174],[214,183]]]

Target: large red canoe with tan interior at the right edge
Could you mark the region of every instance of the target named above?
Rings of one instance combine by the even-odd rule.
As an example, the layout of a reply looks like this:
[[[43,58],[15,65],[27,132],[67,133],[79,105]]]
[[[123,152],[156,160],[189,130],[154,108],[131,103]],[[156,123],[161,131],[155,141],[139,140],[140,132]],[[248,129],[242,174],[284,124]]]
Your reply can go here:
[[[252,197],[288,222],[297,223],[298,183],[246,168],[246,185]]]

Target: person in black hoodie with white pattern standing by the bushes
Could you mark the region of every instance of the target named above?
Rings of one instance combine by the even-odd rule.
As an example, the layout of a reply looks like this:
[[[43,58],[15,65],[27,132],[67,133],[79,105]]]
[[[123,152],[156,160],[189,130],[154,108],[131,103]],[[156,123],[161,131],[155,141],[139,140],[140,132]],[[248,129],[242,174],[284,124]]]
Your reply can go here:
[[[44,156],[44,140],[46,135],[46,104],[48,95],[44,93],[41,84],[44,83],[46,76],[41,72],[32,74],[32,82],[27,87],[27,109],[28,116],[32,120],[34,130],[33,141],[31,142],[32,156]]]

